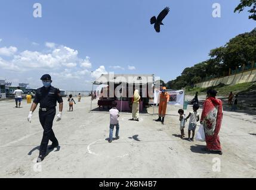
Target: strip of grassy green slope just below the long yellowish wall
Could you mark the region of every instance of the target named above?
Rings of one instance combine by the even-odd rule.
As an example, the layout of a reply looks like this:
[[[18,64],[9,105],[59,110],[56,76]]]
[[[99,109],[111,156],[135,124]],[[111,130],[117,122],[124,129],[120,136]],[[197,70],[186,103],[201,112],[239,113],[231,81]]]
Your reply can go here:
[[[238,94],[240,92],[245,92],[251,89],[252,87],[255,87],[256,83],[242,83],[242,84],[236,84],[236,85],[224,85],[219,84],[215,87],[209,87],[214,88],[218,91],[218,96],[229,96],[230,91],[233,91],[234,94]],[[209,88],[199,88],[199,87],[186,87],[186,94],[189,95],[195,95],[196,91],[198,91],[199,95],[206,95],[206,91]]]

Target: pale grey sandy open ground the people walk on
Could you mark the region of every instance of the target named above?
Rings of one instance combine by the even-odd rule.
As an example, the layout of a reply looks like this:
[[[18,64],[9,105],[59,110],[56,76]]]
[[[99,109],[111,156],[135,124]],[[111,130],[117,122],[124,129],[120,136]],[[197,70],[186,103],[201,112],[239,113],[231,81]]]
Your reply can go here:
[[[96,103],[94,100],[94,108]],[[121,138],[108,143],[109,114],[89,113],[90,97],[83,97],[73,112],[67,112],[65,98],[63,118],[54,121],[53,128],[60,147],[36,164],[42,138],[38,109],[30,124],[30,105],[23,101],[22,106],[14,108],[14,100],[0,102],[1,178],[256,177],[255,115],[224,112],[220,131],[224,154],[220,156],[203,152],[205,143],[177,136],[178,106],[168,106],[165,125],[153,121],[157,115],[141,114],[141,121],[135,122],[128,120],[130,113],[121,114]],[[189,106],[186,114],[191,109]],[[149,113],[153,113],[152,107]],[[216,171],[216,162],[220,163],[220,172]]]

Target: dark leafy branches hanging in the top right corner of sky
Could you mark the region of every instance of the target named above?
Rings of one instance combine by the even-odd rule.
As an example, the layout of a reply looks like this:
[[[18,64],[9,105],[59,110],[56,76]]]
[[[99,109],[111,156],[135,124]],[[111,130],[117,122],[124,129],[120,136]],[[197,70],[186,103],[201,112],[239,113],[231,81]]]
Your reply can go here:
[[[249,19],[256,20],[256,0],[240,0],[240,4],[235,8],[234,12],[238,11],[240,13],[246,7],[251,8],[248,11],[251,13],[251,15],[249,15]]]

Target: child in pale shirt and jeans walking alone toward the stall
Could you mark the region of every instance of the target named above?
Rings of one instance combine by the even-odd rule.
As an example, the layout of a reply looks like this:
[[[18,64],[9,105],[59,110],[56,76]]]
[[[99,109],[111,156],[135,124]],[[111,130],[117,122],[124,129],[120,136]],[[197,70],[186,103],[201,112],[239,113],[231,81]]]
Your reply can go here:
[[[115,101],[112,102],[112,109],[109,110],[110,113],[110,131],[109,131],[109,143],[112,143],[112,138],[113,138],[113,131],[116,126],[116,140],[119,139],[118,133],[119,133],[119,111],[116,109],[116,103]]]

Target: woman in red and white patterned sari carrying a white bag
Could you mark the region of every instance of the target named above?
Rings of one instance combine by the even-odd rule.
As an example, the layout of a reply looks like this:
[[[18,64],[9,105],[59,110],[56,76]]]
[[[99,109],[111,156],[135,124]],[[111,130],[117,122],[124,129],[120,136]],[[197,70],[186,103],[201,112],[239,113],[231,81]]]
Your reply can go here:
[[[206,151],[222,154],[218,136],[223,118],[222,101],[216,99],[217,91],[208,90],[207,99],[203,103],[201,124],[205,129]]]

